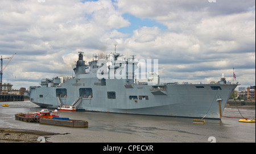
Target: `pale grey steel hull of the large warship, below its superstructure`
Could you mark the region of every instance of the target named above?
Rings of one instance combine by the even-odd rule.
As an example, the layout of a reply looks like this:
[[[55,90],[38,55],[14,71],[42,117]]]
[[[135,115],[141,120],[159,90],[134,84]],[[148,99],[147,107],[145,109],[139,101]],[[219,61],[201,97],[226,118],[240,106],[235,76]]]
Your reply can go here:
[[[226,102],[237,85],[164,85],[163,89],[152,88],[150,85],[125,86],[93,86],[92,82],[74,84],[81,86],[62,85],[61,88],[31,88],[30,100],[40,107],[57,108],[59,105],[56,97],[57,89],[67,89],[67,97],[59,98],[65,105],[72,103],[81,97],[80,89],[92,89],[92,98],[81,98],[76,106],[85,111],[99,111],[109,113],[182,116],[192,118],[220,119]],[[82,85],[87,86],[82,86]],[[158,85],[155,85],[158,86]],[[163,86],[163,85],[159,85]],[[220,89],[216,89],[220,88]],[[215,88],[215,89],[214,89]],[[108,91],[115,93],[115,97],[109,98]],[[131,98],[132,97],[132,98]],[[221,113],[217,97],[222,100]]]

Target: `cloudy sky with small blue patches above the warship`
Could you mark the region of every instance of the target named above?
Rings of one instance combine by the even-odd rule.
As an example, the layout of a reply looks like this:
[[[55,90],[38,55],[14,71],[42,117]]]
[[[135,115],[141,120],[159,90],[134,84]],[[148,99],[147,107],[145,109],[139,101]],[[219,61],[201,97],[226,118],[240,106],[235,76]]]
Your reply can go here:
[[[39,86],[71,76],[78,52],[158,59],[160,82],[255,85],[254,0],[4,0],[3,83]],[[3,67],[9,60],[3,60]]]

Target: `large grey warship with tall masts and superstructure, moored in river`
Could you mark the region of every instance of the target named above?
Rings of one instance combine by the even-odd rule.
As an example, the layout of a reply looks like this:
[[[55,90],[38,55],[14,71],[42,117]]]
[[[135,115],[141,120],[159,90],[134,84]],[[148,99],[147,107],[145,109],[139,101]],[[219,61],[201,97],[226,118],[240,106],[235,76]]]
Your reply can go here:
[[[75,76],[43,78],[40,86],[30,86],[30,101],[50,108],[73,105],[84,111],[221,119],[238,85],[224,77],[217,84],[160,84],[159,76],[155,84],[138,82],[134,57],[114,52],[88,64],[83,57],[79,52]]]

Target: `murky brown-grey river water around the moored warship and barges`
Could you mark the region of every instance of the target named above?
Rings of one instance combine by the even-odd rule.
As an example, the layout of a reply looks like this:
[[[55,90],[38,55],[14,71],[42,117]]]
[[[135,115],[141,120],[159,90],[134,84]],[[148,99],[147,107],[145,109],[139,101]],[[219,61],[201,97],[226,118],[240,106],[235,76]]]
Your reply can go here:
[[[9,107],[2,107],[5,103]],[[43,109],[30,101],[0,102],[0,105],[0,127],[65,134],[50,136],[47,141],[53,143],[255,143],[255,123],[240,123],[237,118],[206,119],[205,124],[195,124],[192,118],[59,111],[61,117],[89,123],[88,128],[71,128],[15,120],[16,113]],[[255,118],[255,108],[240,108],[240,112],[245,118]],[[223,116],[241,117],[236,107],[226,107]]]

